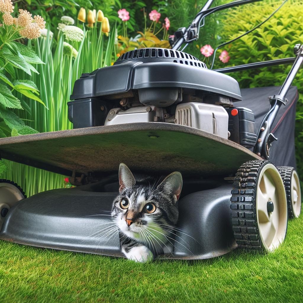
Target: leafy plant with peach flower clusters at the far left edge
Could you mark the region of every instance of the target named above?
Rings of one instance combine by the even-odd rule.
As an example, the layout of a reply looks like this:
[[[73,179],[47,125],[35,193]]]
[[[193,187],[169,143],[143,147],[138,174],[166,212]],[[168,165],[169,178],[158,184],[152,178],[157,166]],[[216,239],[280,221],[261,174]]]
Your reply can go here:
[[[19,10],[18,18],[14,18],[14,9],[10,0],[0,2],[0,138],[37,133],[12,111],[28,110],[28,104],[22,98],[17,98],[16,92],[44,105],[38,97],[39,90],[35,83],[16,77],[17,69],[27,75],[38,73],[33,65],[43,62],[35,52],[16,40],[39,37],[40,30],[45,28],[45,21],[40,16],[32,18],[24,10]],[[5,162],[0,161],[0,174],[5,170]]]

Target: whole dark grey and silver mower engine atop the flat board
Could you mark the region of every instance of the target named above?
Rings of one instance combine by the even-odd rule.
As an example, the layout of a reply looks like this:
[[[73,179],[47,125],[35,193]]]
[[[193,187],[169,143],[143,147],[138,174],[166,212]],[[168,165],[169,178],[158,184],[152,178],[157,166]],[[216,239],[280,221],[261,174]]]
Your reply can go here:
[[[253,113],[247,108],[239,110],[238,120],[230,113],[233,102],[241,100],[238,82],[176,50],[143,48],[127,52],[113,66],[82,74],[75,82],[71,100],[68,118],[74,128],[166,122],[222,138],[232,134],[245,146],[256,142]]]

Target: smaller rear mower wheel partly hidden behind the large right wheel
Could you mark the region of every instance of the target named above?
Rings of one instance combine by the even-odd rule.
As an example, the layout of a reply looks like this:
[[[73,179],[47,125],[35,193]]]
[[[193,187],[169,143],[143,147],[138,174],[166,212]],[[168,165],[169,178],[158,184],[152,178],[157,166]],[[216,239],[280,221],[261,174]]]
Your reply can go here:
[[[288,218],[298,218],[301,213],[301,188],[298,174],[295,168],[290,166],[277,168],[285,186]]]

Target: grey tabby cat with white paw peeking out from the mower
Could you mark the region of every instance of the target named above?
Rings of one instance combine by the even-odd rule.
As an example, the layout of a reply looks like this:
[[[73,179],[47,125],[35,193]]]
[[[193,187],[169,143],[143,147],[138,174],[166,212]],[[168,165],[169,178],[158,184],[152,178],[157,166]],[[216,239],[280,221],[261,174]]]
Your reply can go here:
[[[146,262],[153,261],[155,255],[172,253],[181,173],[171,173],[158,185],[152,178],[135,180],[129,168],[121,163],[119,185],[112,218],[120,230],[120,244],[126,258]]]

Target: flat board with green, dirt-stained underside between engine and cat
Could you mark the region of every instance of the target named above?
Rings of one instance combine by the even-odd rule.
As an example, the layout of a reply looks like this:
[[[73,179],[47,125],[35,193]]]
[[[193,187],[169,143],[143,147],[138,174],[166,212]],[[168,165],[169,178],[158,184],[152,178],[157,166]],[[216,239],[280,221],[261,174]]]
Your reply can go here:
[[[0,139],[2,158],[71,176],[132,170],[184,176],[230,176],[257,155],[230,140],[188,126],[130,123]]]

